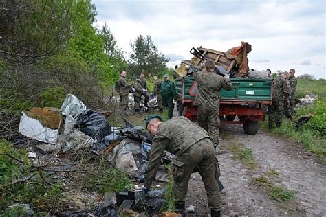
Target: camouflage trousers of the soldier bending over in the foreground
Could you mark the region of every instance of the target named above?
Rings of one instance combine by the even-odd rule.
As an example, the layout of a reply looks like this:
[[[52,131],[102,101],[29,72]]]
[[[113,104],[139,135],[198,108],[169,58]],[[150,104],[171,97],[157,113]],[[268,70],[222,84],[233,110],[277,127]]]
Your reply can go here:
[[[189,179],[195,168],[198,169],[205,185],[208,208],[220,210],[221,196],[217,179],[221,172],[212,141],[208,138],[197,141],[185,153],[178,154],[173,160],[175,203],[182,204],[186,200]]]

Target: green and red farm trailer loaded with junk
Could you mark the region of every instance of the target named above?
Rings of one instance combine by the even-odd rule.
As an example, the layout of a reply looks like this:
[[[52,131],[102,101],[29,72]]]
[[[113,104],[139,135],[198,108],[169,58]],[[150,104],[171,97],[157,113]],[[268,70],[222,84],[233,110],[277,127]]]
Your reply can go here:
[[[230,78],[231,91],[221,89],[219,115],[221,124],[243,124],[248,135],[255,135],[263,119],[263,106],[272,103],[272,80]],[[176,78],[177,108],[179,115],[191,121],[197,119],[197,106],[193,105],[197,83],[192,76]],[[238,117],[235,120],[235,117]]]

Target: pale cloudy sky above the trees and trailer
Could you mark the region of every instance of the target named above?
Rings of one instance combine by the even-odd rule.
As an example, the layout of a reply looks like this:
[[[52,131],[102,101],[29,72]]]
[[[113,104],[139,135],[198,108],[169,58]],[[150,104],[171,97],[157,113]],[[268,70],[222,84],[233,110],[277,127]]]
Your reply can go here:
[[[126,52],[150,35],[169,66],[193,56],[192,47],[226,52],[246,41],[250,69],[289,71],[326,78],[325,0],[131,1],[93,0],[95,27],[107,23]]]

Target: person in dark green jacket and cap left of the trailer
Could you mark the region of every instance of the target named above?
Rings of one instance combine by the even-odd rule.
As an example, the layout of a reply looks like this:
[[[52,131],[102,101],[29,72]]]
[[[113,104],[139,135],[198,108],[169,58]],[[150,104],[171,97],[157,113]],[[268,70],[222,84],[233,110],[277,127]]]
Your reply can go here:
[[[161,87],[162,93],[162,104],[164,107],[168,107],[168,118],[171,118],[173,115],[173,100],[177,100],[177,92],[175,91],[174,82],[170,80],[168,74],[163,76],[164,82]]]

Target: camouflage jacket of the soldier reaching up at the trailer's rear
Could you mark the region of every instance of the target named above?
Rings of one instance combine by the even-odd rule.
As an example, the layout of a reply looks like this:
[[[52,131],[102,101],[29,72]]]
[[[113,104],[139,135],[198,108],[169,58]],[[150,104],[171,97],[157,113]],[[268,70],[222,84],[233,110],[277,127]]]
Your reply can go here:
[[[197,81],[195,105],[219,109],[220,91],[222,88],[227,91],[232,89],[230,80],[217,75],[213,70],[194,71],[193,76]]]

